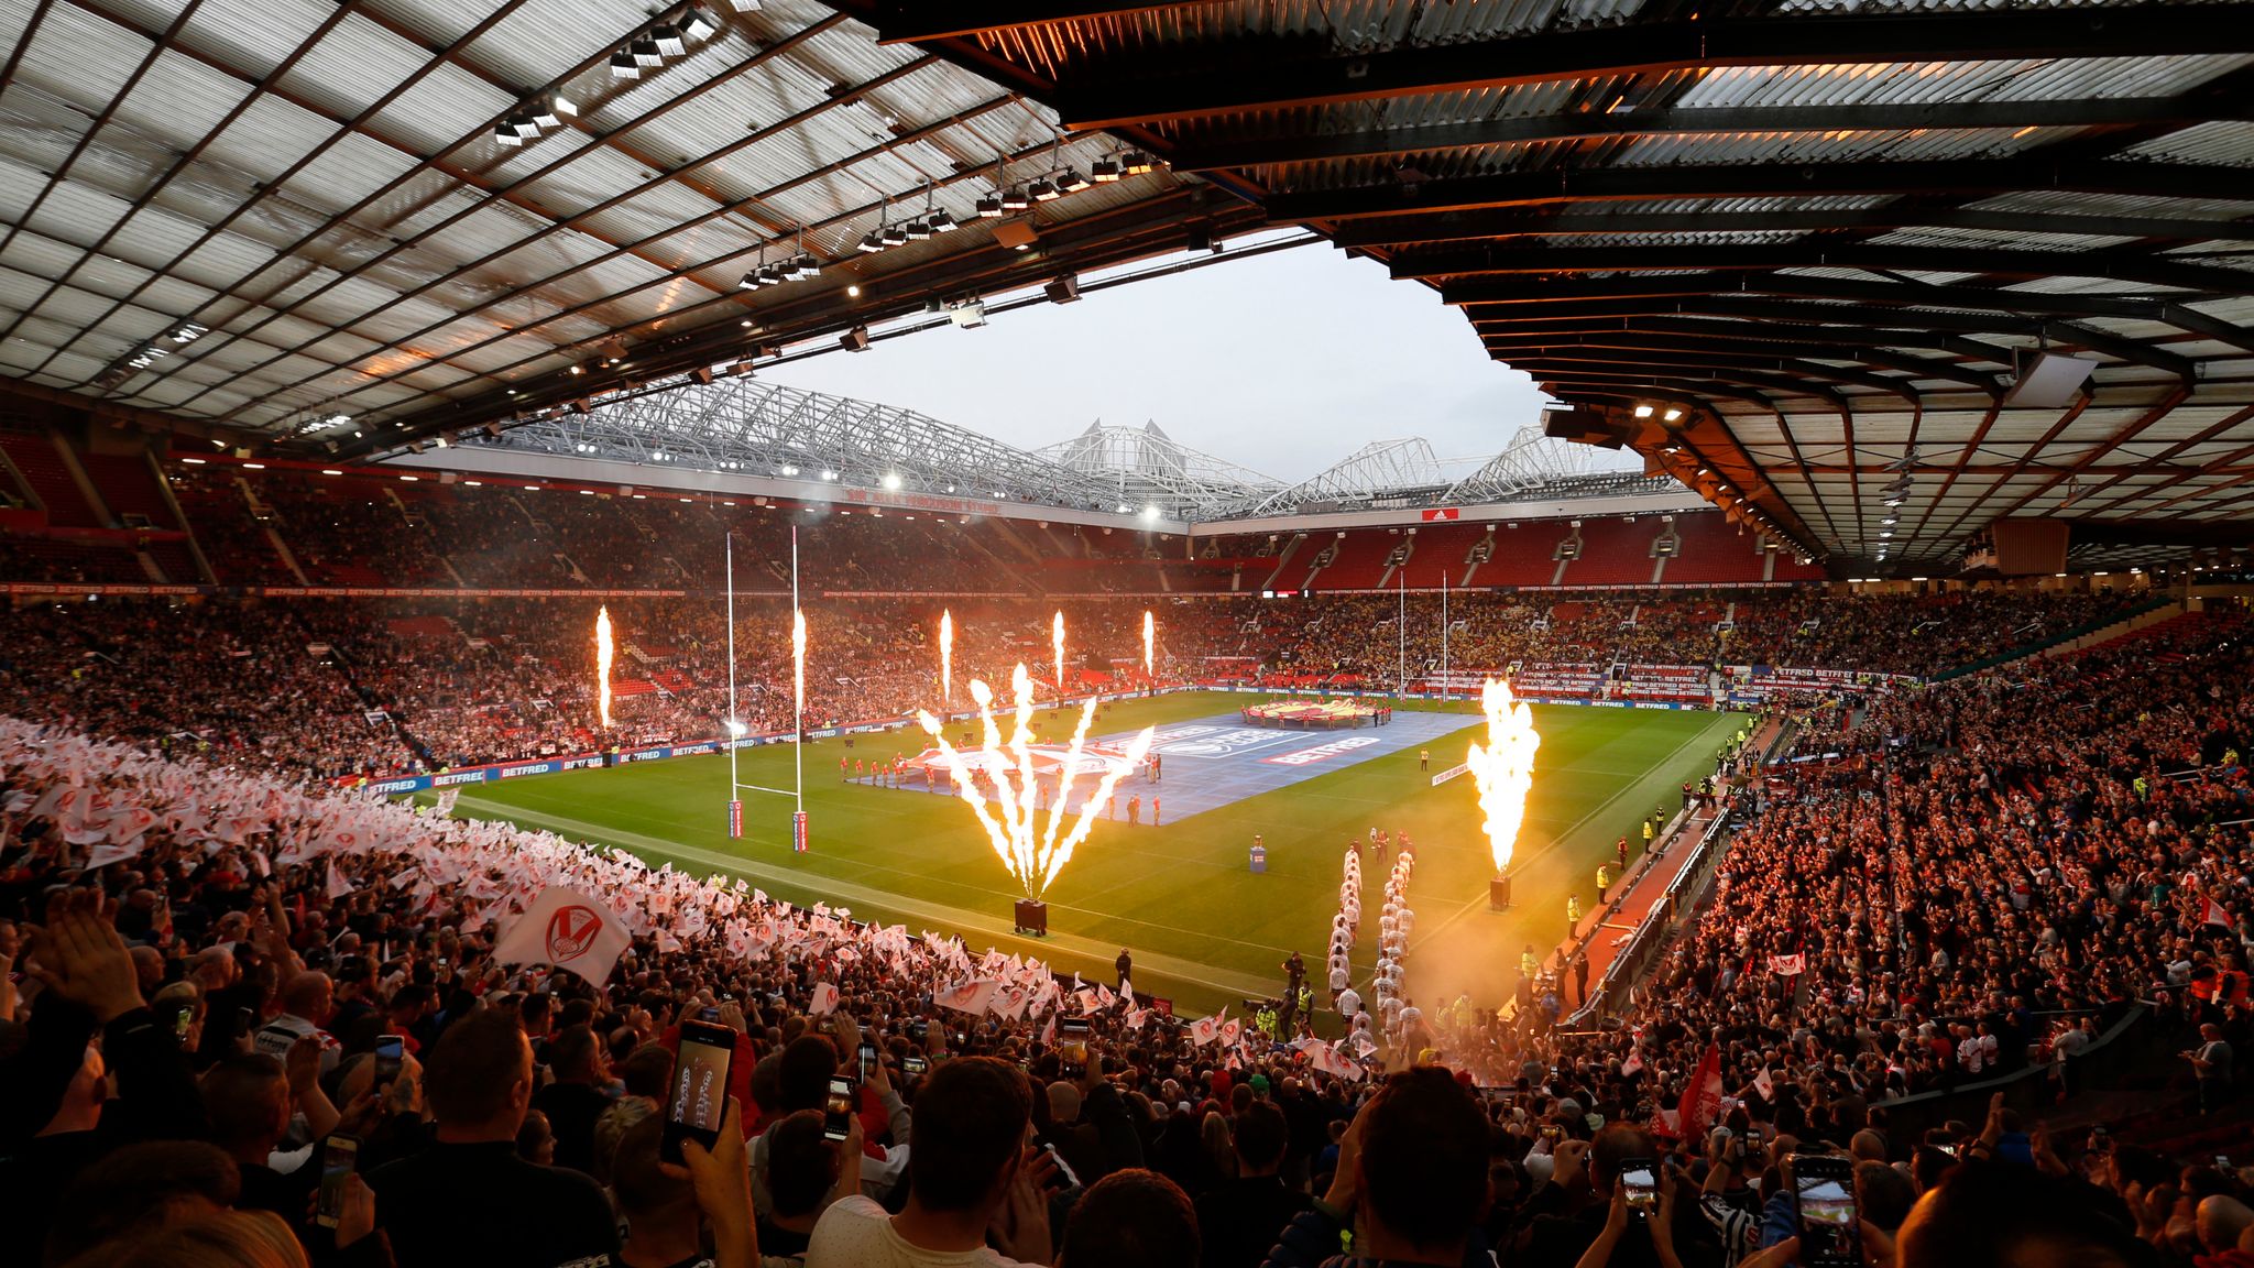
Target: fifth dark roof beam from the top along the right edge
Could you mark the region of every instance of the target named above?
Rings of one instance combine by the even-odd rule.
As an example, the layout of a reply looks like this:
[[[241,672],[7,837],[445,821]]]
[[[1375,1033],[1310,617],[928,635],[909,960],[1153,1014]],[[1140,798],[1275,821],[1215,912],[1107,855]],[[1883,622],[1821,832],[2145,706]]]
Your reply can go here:
[[[2236,296],[2254,287],[2254,273],[2213,268],[2153,255],[2110,250],[2004,250],[1952,246],[1853,246],[1826,241],[1778,241],[1760,246],[1476,246],[1393,257],[1393,278],[1467,278],[1483,273],[1643,273],[1643,271],[1749,271],[1749,268],[1869,268],[1929,273],[1993,273],[2004,278],[2112,278],[2148,287],[2182,287]]]

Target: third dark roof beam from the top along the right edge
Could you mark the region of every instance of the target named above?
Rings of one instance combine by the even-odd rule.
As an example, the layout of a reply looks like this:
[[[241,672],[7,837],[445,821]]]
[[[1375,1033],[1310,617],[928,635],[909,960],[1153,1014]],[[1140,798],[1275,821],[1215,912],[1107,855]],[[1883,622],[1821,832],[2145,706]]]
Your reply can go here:
[[[2146,194],[2211,199],[2245,178],[2243,167],[2200,162],[2123,162],[2040,158],[1936,158],[1907,162],[1702,162],[1675,167],[1558,167],[1499,171],[1454,180],[1391,180],[1350,190],[1271,194],[1269,219],[1346,221],[1467,212],[1479,208],[1539,208],[1639,199],[1790,199],[1799,194],[2006,194],[2071,190],[2078,194]]]

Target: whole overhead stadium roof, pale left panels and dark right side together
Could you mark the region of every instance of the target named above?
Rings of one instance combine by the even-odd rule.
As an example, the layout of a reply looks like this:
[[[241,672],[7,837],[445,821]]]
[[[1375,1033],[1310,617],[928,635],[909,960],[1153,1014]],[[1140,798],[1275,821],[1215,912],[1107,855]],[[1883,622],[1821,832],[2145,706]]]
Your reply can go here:
[[[1814,553],[2254,532],[2247,2],[7,0],[0,47],[0,375],[221,444],[1298,223]]]

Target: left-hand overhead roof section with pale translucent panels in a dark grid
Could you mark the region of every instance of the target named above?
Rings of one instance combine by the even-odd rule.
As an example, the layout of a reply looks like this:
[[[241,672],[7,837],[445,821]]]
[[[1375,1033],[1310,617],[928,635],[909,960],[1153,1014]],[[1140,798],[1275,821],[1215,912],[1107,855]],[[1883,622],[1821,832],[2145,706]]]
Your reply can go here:
[[[1163,167],[980,221],[1120,147],[809,0],[9,0],[0,50],[0,375],[223,442],[367,454],[1260,223]]]

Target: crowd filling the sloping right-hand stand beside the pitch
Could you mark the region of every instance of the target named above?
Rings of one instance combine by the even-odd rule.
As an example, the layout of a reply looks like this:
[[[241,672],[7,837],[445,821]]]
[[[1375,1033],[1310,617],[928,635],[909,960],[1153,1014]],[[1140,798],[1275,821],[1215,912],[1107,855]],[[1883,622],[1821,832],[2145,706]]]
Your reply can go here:
[[[1483,1078],[1558,1072],[1607,1121],[1711,1088],[1740,1135],[1839,1139],[1889,1099],[2031,1065],[2065,1097],[2074,1058],[2144,1009],[2184,1040],[2175,1083],[2218,1108],[2254,1045],[2249,629],[2191,616],[1801,708],[1819,742],[1745,794],[1763,810],[1618,1031],[1562,1027],[1560,961],[1526,963],[1506,1015],[1443,1009],[1436,1049]],[[2189,1254],[2177,1230],[2159,1241]]]

